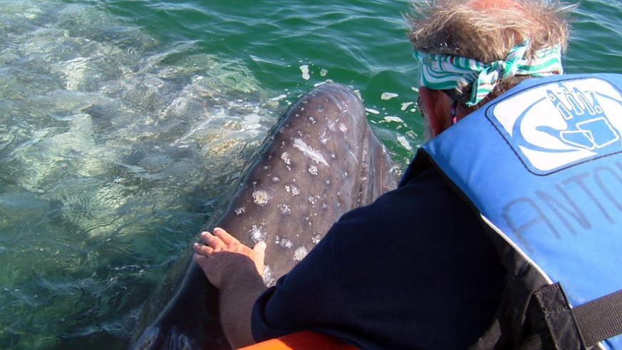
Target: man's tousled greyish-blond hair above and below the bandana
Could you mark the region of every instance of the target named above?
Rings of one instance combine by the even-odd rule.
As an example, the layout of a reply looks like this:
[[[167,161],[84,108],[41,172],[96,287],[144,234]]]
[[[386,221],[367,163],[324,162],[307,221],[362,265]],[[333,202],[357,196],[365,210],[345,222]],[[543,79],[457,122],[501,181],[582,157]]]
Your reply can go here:
[[[569,36],[567,9],[546,0],[427,0],[413,4],[410,42],[427,53],[463,56],[483,63],[506,58],[529,38],[526,56],[552,46],[566,48]],[[515,76],[499,81],[489,98],[501,95],[522,81]],[[457,101],[470,99],[471,86],[447,91]],[[482,103],[485,103],[484,100]]]

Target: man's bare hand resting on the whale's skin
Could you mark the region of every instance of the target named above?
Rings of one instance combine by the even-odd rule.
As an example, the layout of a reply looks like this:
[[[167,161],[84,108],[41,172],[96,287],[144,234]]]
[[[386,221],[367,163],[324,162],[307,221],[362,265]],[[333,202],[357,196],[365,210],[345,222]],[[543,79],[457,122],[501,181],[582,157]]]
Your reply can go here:
[[[195,262],[205,272],[214,287],[221,288],[229,276],[254,271],[264,274],[266,243],[259,242],[253,249],[242,245],[222,228],[214,228],[214,234],[202,232],[205,245],[195,243]]]

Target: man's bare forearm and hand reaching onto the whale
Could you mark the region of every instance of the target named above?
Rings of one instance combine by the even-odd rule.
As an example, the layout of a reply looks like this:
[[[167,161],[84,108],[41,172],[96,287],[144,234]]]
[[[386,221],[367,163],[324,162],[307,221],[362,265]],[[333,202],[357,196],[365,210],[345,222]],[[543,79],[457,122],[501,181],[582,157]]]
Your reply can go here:
[[[220,321],[229,344],[234,349],[254,344],[251,313],[266,289],[261,277],[266,244],[259,242],[251,249],[221,228],[214,228],[213,235],[202,232],[201,239],[205,245],[194,245],[194,260],[220,289]]]

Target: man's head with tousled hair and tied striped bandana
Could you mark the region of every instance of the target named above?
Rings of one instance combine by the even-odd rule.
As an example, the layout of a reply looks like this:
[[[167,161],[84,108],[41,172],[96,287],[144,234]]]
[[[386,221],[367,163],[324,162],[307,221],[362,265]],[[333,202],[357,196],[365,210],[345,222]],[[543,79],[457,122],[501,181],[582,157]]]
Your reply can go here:
[[[460,119],[525,78],[561,73],[561,51],[569,33],[566,11],[555,2],[543,1],[413,4],[409,37],[415,58],[422,63],[420,98],[432,136],[451,125],[451,105]],[[449,66],[453,71],[445,75],[442,70]],[[480,67],[484,73],[477,72]],[[474,78],[478,74],[492,78],[478,81]]]

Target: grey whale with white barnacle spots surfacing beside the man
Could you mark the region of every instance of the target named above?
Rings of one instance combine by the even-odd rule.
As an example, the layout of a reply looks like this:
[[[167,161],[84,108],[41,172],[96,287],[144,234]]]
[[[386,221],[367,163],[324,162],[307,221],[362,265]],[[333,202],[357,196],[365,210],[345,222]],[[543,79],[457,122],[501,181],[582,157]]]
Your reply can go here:
[[[390,157],[363,103],[345,86],[326,83],[284,113],[204,230],[222,227],[250,247],[265,241],[270,285],[341,215],[393,188]],[[192,262],[192,249],[145,303],[130,349],[231,349],[218,290]]]

